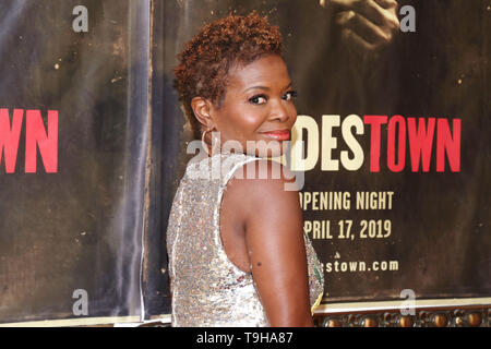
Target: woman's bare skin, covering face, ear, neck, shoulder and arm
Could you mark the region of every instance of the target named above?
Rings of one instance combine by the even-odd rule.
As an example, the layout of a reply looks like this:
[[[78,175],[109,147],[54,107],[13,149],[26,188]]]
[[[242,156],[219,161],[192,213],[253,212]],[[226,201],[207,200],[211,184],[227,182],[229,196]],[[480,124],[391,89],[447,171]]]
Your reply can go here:
[[[228,82],[220,107],[202,97],[192,101],[197,120],[219,131],[221,142],[235,140],[247,149],[247,141],[274,142],[265,131],[291,130],[297,111],[280,57],[266,56],[235,67]],[[282,155],[267,148],[259,154]],[[248,179],[247,167],[241,167],[224,192],[220,237],[225,252],[236,266],[252,273],[272,326],[313,326],[299,195],[285,190],[285,183],[295,179],[283,166],[282,176],[273,177],[273,167],[280,165],[268,159],[254,166],[256,173],[266,166],[270,176]]]

